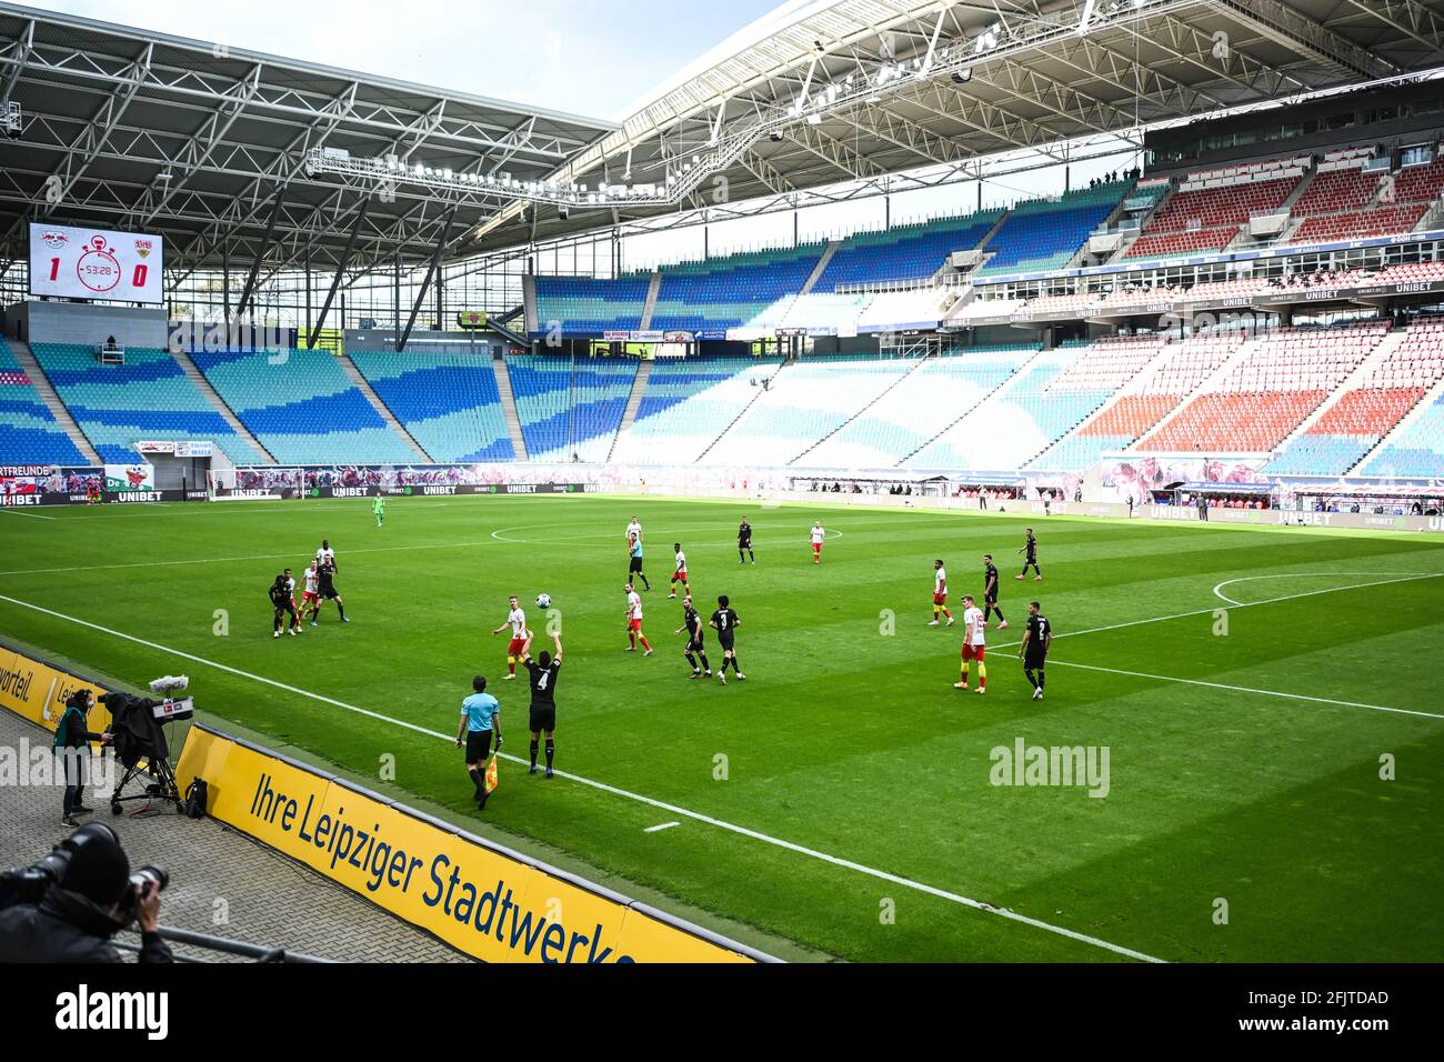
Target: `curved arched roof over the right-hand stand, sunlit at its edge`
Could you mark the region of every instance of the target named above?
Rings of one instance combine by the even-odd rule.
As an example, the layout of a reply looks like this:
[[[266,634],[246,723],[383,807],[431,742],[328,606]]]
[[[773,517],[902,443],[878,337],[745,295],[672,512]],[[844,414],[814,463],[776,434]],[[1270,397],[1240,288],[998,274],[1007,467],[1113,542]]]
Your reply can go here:
[[[1084,17],[1087,22],[1084,23]],[[1080,32],[1080,27],[1086,29]],[[944,55],[949,49],[952,55]],[[559,176],[661,181],[715,139],[747,140],[661,208],[510,207],[472,234],[504,247],[599,224],[786,198],[1064,142],[1141,142],[1141,127],[1444,64],[1440,0],[812,0],[788,3],[644,98]],[[894,75],[877,85],[884,68]],[[852,78],[849,87],[848,78]],[[858,87],[874,85],[871,91]],[[833,104],[829,87],[842,87]],[[817,98],[823,97],[822,105]],[[790,121],[770,120],[806,98]],[[749,137],[751,133],[751,139]]]

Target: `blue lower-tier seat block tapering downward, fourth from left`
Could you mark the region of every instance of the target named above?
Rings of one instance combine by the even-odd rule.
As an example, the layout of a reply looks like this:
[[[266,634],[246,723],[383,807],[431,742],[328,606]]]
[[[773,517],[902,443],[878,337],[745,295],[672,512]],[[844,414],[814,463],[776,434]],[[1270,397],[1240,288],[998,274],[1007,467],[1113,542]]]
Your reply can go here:
[[[436,461],[516,457],[490,353],[355,351],[351,360],[391,415]]]

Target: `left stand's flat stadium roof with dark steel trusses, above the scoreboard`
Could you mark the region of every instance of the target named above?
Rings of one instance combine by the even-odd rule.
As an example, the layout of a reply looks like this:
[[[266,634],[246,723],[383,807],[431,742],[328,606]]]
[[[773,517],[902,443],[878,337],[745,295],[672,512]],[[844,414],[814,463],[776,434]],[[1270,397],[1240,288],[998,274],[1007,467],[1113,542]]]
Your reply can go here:
[[[360,155],[456,172],[536,178],[615,123],[413,85],[0,3],[0,100],[23,134],[0,140],[0,237],[23,256],[25,223],[157,231],[180,276],[248,269],[286,186],[270,269],[335,267],[362,197],[305,172],[306,153]],[[396,185],[368,197],[354,262],[427,257],[446,211],[452,236],[498,202]]]

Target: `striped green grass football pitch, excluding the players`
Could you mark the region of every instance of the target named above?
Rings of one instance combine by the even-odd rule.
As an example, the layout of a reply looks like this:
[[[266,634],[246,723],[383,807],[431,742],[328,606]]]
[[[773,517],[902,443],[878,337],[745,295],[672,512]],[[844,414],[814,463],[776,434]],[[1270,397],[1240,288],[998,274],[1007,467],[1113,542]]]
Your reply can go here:
[[[624,652],[632,514],[651,657]],[[1025,523],[1043,582],[1014,578]],[[351,623],[273,640],[266,588],[322,538]],[[703,614],[732,598],[747,682],[689,681],[677,540]],[[927,621],[934,558],[960,614],[985,552],[1011,627],[978,696],[953,689],[962,626]],[[189,672],[222,728],[855,961],[1438,959],[1441,575],[1424,535],[825,504],[404,498],[384,529],[365,500],[0,511],[6,637],[133,686]],[[488,633],[511,592],[539,631],[536,595],[559,610],[559,777],[504,760],[478,813],[451,743],[474,673],[527,751],[526,685]],[[1032,598],[1056,631],[1043,701],[1014,655]],[[1056,748],[1092,779],[1050,770],[1073,763]]]

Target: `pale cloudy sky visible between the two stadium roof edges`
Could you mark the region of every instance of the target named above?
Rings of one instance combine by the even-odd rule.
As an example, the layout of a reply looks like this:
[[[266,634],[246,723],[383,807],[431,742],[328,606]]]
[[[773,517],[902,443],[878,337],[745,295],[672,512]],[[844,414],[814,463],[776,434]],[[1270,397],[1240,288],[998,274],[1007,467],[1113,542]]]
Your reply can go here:
[[[778,0],[48,0],[26,6],[621,118],[637,100],[775,9]]]

